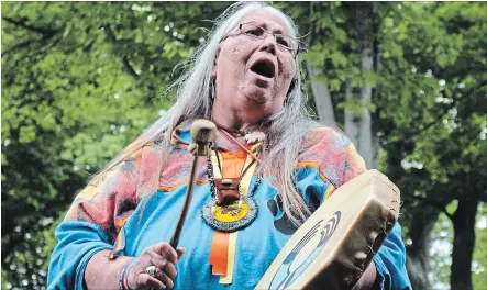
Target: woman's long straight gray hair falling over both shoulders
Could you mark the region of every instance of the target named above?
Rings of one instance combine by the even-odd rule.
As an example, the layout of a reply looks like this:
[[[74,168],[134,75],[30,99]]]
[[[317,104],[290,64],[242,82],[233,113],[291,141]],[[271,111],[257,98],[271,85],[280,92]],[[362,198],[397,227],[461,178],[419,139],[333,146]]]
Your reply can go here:
[[[171,132],[182,121],[210,119],[211,71],[220,42],[239,25],[245,15],[258,9],[268,10],[279,16],[288,26],[290,36],[298,38],[296,25],[281,11],[261,2],[232,4],[217,19],[211,37],[201,44],[189,59],[190,68],[170,86],[169,89],[177,88],[177,99],[174,105],[119,154],[92,181],[98,180],[111,168],[151,142],[159,141],[163,148],[169,147]],[[264,175],[270,178],[273,186],[280,192],[285,214],[295,225],[300,225],[310,211],[296,190],[294,166],[302,137],[317,124],[308,118],[299,74],[300,65],[297,57],[295,86],[287,96],[285,108],[267,122],[269,126],[264,147],[269,150],[263,153],[262,164]],[[159,168],[163,167],[164,164],[161,164]]]

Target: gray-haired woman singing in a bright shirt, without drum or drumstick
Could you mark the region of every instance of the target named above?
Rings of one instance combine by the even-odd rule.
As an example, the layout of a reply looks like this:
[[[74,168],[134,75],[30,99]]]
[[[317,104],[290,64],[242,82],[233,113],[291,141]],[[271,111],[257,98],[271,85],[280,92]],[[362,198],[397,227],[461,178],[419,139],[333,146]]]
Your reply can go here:
[[[296,226],[365,170],[345,136],[303,111],[290,19],[236,3],[215,27],[171,109],[75,199],[56,230],[49,289],[252,289]],[[197,119],[219,130],[175,250],[164,241],[182,207]],[[399,225],[355,286],[372,287],[410,287]]]

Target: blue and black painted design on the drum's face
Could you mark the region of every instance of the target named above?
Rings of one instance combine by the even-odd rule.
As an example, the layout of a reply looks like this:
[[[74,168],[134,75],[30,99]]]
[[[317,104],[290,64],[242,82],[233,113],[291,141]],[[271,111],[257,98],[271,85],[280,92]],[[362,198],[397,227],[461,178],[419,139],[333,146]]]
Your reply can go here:
[[[321,220],[306,233],[277,269],[269,289],[289,287],[308,268],[326,246],[340,223],[341,215],[341,212],[336,211],[326,223]]]

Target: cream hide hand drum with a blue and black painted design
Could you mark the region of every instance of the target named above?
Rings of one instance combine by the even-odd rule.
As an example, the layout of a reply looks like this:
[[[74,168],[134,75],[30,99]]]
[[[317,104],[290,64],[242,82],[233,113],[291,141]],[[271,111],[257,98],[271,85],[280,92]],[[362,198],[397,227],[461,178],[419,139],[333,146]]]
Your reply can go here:
[[[291,236],[256,289],[351,289],[399,216],[399,189],[368,170],[333,192]]]

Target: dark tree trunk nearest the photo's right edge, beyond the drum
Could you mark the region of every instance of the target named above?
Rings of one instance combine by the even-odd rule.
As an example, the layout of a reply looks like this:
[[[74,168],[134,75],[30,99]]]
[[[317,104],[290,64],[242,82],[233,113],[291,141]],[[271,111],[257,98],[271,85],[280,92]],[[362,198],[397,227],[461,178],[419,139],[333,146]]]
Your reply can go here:
[[[467,186],[467,185],[465,185]],[[471,192],[458,200],[458,208],[453,215],[453,250],[450,276],[451,290],[472,290],[471,265],[475,246],[475,216],[478,197]]]

